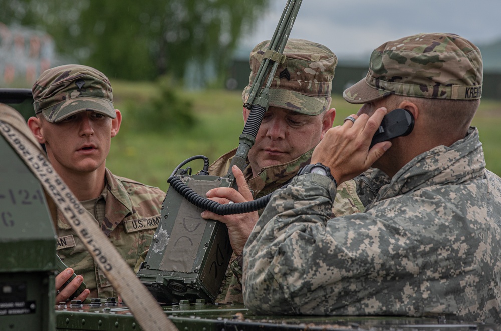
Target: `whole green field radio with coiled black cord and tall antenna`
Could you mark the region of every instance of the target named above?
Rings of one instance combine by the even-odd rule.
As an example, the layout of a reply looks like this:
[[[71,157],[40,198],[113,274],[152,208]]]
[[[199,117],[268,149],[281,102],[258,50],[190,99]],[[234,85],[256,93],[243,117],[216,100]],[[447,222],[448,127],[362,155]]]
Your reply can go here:
[[[203,210],[219,215],[246,213],[266,206],[268,197],[255,201],[221,205],[203,195],[211,188],[237,188],[233,165],[247,167],[247,155],[255,143],[263,114],[268,110],[268,94],[301,0],[288,0],[280,21],[265,52],[245,107],[249,117],[240,135],[236,155],[224,177],[209,176],[208,159],[194,156],[181,163],[168,179],[170,187],[162,204],[162,219],[154,235],[148,255],[137,276],[160,303],[213,302],[228,267],[232,248],[226,225],[200,217]],[[267,79],[268,77],[268,79]],[[266,81],[266,83],[265,83]],[[192,175],[191,169],[181,169],[194,159],[203,159],[203,170]]]

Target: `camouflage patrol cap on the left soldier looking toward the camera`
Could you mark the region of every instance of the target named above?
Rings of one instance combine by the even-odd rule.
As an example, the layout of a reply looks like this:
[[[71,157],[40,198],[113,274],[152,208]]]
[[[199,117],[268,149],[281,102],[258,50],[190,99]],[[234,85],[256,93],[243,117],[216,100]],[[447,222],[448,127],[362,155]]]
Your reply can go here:
[[[82,65],[48,69],[32,87],[35,114],[57,123],[82,111],[95,111],[115,118],[113,93],[108,78],[100,71]]]

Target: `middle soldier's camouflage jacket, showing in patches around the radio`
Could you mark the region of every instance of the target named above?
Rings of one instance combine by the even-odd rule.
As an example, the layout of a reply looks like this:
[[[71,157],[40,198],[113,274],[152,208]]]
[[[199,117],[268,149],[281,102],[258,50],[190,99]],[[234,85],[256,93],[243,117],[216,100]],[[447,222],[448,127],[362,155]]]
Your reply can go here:
[[[214,176],[224,176],[228,172],[232,157],[236,149],[229,151],[221,156],[209,167],[209,174]],[[278,188],[284,186],[290,181],[299,170],[310,164],[313,149],[301,155],[291,162],[270,166],[261,169],[256,176],[252,176],[250,166],[244,171],[245,178],[250,189],[254,193],[254,198],[265,196]],[[357,188],[354,181],[348,181],[340,185],[332,205],[332,216],[349,215],[363,211],[364,205],[360,201],[356,192]],[[259,211],[261,214],[262,210]],[[225,279],[221,285],[219,295],[216,298],[217,303],[243,303],[241,279],[242,279],[242,256],[233,257],[228,266]]]

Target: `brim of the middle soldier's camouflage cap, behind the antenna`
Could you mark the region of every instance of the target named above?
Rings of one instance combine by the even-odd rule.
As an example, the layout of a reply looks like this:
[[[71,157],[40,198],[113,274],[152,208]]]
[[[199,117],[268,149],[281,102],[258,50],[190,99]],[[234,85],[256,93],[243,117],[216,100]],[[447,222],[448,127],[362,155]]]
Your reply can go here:
[[[250,86],[243,90],[242,100],[247,101],[250,94]],[[292,110],[293,112],[315,116],[321,114],[329,107],[331,100],[325,97],[310,97],[304,94],[285,90],[285,89],[270,89],[269,105],[283,109]]]

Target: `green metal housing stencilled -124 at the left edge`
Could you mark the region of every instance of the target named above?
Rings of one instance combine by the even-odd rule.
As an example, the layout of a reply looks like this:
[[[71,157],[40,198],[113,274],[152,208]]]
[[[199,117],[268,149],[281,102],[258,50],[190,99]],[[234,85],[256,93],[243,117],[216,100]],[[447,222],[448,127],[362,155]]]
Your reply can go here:
[[[0,329],[55,329],[55,269],[42,186],[0,136]]]

